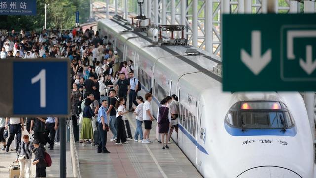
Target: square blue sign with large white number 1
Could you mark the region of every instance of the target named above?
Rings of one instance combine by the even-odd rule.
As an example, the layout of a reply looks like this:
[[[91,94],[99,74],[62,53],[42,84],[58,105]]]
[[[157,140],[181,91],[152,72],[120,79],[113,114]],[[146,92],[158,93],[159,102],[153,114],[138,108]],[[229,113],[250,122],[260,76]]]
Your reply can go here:
[[[67,70],[67,62],[13,62],[13,114],[67,115]]]

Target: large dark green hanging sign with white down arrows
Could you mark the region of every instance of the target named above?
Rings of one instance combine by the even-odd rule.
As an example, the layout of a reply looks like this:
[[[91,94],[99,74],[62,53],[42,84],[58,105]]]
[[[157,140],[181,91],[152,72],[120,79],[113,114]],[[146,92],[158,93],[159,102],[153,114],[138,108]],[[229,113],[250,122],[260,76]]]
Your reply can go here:
[[[315,91],[316,14],[223,15],[224,91]]]

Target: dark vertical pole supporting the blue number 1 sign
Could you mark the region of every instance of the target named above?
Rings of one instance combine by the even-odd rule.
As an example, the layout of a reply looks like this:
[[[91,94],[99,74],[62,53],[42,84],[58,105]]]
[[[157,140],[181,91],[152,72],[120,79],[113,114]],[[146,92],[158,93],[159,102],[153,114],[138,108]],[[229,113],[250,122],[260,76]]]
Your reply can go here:
[[[59,177],[66,178],[66,118],[60,118],[59,134],[60,134],[60,164]]]

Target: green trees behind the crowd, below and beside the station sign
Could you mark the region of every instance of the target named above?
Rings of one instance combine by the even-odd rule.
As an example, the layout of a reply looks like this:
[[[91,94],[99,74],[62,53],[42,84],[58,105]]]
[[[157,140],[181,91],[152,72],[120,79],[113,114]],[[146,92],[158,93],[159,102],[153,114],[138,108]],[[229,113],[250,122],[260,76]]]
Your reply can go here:
[[[45,3],[47,7],[47,29],[60,27],[69,29],[75,26],[75,12],[78,10],[80,23],[85,23],[90,15],[90,0],[36,0],[36,16],[0,16],[0,29],[42,29],[44,27]]]

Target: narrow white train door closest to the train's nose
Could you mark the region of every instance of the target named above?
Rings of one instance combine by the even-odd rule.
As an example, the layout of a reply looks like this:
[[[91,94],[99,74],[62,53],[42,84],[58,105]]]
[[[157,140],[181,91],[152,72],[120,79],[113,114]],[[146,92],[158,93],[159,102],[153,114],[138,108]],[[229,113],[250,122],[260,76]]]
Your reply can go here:
[[[204,154],[202,152],[202,150],[204,149],[204,141],[205,141],[205,134],[206,134],[206,129],[203,128],[202,126],[202,111],[203,111],[203,105],[199,105],[198,108],[198,127],[197,127],[197,168],[198,170],[200,170],[200,167],[202,165],[201,162],[201,156],[203,156],[202,154]]]

